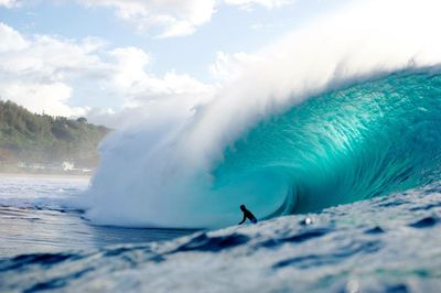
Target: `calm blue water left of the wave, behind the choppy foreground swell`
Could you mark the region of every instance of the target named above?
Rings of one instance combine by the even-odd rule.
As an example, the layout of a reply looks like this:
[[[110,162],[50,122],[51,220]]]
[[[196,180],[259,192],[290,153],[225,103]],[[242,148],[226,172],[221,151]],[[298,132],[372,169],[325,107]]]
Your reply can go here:
[[[144,243],[192,231],[93,225],[69,207],[88,183],[79,176],[0,175],[0,257]]]

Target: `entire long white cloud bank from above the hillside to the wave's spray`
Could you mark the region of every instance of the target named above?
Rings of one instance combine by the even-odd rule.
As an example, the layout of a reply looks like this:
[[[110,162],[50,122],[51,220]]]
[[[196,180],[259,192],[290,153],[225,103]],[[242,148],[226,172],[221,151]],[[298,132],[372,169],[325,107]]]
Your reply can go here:
[[[92,113],[94,105],[114,108],[94,109],[92,116],[101,121],[121,107],[144,108],[153,100],[189,99],[194,105],[213,89],[173,69],[163,76],[149,73],[151,56],[138,47],[109,50],[94,37],[25,37],[4,23],[0,39],[0,97],[34,112],[78,116]]]

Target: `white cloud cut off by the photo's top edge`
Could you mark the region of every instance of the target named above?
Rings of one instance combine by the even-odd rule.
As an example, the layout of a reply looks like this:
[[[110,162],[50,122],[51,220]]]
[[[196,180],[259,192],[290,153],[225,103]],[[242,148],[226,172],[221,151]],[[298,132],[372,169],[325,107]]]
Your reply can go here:
[[[52,0],[60,2],[60,0]],[[68,0],[66,0],[68,1]],[[135,25],[140,32],[151,32],[157,37],[183,36],[211,21],[220,6],[235,6],[250,10],[255,6],[279,8],[292,0],[69,0],[87,8],[115,9],[119,19]],[[14,8],[31,0],[0,0],[0,7]]]

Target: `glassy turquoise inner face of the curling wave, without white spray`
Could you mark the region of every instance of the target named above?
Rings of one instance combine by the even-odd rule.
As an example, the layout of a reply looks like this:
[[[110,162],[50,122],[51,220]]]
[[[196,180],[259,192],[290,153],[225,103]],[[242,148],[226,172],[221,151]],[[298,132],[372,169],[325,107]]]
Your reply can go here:
[[[267,217],[440,180],[441,75],[401,72],[261,121],[212,171],[212,189]]]

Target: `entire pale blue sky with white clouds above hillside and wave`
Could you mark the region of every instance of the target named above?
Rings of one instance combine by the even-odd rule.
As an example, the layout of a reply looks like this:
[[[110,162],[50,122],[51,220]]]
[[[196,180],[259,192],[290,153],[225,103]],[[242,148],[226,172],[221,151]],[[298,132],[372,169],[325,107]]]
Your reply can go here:
[[[0,0],[0,98],[117,127],[128,109],[213,95],[343,0]]]

